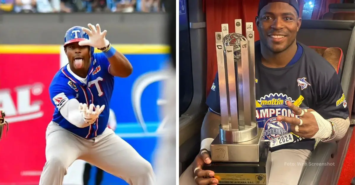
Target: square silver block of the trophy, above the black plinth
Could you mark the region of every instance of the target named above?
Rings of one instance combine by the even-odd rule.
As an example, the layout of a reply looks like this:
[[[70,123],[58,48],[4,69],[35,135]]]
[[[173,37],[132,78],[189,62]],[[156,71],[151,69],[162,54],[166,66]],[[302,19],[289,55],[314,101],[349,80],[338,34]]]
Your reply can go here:
[[[217,135],[211,143],[211,160],[213,162],[259,162],[265,149],[262,141],[263,133],[264,128],[258,128],[256,138],[240,143],[222,141]]]

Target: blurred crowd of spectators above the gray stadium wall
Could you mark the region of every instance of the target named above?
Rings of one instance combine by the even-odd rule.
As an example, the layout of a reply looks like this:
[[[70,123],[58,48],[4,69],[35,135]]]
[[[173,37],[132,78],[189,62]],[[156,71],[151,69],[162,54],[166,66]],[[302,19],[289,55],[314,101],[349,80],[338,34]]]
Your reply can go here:
[[[166,0],[0,0],[0,11],[15,13],[165,12]]]

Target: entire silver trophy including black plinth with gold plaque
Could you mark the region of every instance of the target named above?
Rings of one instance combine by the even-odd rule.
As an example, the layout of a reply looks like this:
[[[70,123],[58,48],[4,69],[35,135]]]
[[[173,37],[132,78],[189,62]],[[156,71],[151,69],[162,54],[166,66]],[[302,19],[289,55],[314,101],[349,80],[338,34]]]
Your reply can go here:
[[[253,23],[246,23],[244,36],[241,19],[234,22],[235,33],[228,24],[215,33],[221,125],[211,143],[212,163],[203,169],[214,171],[218,184],[266,185],[268,145],[256,122]]]

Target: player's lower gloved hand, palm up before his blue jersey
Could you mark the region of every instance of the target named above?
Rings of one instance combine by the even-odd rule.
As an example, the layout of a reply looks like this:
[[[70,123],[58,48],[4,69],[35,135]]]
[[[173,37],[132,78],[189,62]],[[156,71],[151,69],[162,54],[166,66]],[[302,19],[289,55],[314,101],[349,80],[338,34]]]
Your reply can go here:
[[[102,105],[101,107],[99,105],[96,106],[95,111],[94,111],[94,104],[90,104],[89,108],[86,105],[86,103],[79,104],[79,110],[84,118],[84,121],[88,124],[94,123],[101,112],[105,109],[105,105]]]

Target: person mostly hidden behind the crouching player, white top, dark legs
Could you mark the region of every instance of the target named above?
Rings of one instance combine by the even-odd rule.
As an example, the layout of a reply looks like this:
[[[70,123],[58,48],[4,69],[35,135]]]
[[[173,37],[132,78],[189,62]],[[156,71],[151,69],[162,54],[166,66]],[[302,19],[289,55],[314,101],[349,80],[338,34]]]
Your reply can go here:
[[[117,126],[117,121],[116,121],[115,112],[112,109],[110,109],[107,127],[111,128],[113,131],[115,131],[116,126]],[[90,163],[85,163],[84,173],[83,173],[84,185],[89,184],[91,168],[92,168],[92,166]],[[104,177],[104,170],[102,170],[101,168],[97,168],[95,176],[96,176],[95,185],[100,185],[102,182],[102,179]]]

